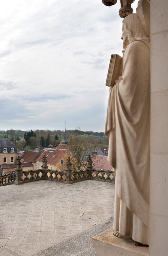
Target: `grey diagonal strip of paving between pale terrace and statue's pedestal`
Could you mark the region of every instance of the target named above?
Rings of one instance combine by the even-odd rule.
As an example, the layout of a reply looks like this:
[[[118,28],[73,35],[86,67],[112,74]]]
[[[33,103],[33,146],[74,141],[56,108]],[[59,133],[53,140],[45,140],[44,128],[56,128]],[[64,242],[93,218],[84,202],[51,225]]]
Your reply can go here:
[[[95,256],[95,249],[92,247],[92,237],[112,226],[113,218],[110,218],[34,256]]]

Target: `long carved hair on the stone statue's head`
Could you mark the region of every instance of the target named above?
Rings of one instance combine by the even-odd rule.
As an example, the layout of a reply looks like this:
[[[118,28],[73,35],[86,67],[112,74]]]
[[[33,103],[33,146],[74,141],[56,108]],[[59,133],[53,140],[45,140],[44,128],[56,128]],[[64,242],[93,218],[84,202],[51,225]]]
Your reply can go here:
[[[123,20],[123,25],[129,41],[131,39],[143,39],[149,41],[149,38],[145,35],[145,32],[142,29],[140,20],[136,13],[126,16]]]

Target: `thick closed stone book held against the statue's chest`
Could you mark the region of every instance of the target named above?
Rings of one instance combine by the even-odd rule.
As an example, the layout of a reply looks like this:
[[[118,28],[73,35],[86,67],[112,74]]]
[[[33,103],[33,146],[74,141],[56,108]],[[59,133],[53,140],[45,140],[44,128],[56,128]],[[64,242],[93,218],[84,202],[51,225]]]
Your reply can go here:
[[[122,57],[118,54],[112,54],[109,64],[109,70],[106,79],[106,85],[113,87],[115,80],[121,75]]]

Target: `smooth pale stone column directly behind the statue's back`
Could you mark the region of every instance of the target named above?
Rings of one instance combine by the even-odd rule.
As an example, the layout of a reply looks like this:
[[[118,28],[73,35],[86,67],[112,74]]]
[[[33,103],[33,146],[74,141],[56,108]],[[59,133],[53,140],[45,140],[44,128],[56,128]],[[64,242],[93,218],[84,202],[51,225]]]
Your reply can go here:
[[[168,1],[150,1],[151,158],[149,255],[168,255]]]

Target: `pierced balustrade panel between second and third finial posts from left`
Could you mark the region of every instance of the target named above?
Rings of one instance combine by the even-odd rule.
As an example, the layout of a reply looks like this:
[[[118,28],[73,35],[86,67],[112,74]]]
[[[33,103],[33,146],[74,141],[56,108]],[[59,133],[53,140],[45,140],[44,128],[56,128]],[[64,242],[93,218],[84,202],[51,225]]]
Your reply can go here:
[[[45,170],[45,179],[66,182],[67,173],[65,171]]]

